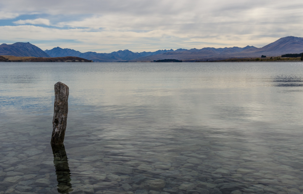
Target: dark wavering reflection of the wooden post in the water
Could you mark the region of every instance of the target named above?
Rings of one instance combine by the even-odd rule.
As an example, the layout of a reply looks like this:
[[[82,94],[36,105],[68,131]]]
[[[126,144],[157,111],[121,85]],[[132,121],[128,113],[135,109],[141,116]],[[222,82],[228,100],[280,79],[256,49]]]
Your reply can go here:
[[[64,144],[52,145],[54,165],[56,169],[58,192],[69,193],[72,191],[70,170]]]

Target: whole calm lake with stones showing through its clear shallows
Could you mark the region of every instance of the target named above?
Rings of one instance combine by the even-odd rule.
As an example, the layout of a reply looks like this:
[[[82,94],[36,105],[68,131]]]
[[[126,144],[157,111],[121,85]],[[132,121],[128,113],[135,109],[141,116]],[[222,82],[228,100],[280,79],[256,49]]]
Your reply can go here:
[[[0,63],[0,194],[301,193],[302,127],[302,62]]]

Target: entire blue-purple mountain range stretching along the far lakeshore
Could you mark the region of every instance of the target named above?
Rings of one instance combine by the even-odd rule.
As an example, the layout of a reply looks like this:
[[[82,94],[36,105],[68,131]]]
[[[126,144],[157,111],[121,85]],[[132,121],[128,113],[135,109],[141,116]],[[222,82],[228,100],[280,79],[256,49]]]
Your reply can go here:
[[[159,59],[178,59],[182,61],[211,61],[230,58],[253,58],[266,56],[280,56],[288,53],[303,52],[303,38],[287,36],[270,43],[262,48],[254,46],[230,48],[203,48],[203,49],[177,49],[158,50],[155,52],[132,52],[119,50],[112,53],[79,52],[73,49],[55,47],[42,51],[35,45],[17,42],[12,45],[0,45],[0,55],[33,56],[33,57],[81,57],[94,62],[150,62]]]

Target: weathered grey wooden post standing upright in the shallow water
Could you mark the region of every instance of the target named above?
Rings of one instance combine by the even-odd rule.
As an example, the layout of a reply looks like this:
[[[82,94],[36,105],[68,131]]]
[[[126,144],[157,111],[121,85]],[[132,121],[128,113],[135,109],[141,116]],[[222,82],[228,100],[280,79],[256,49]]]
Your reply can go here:
[[[54,103],[54,117],[53,117],[53,132],[52,145],[63,144],[67,112],[68,112],[68,86],[57,82],[55,84],[55,103]]]

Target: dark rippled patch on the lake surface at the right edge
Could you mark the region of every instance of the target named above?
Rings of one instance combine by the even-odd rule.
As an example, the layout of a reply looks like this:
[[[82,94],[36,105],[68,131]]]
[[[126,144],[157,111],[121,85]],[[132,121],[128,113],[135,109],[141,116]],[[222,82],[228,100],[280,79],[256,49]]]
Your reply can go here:
[[[298,75],[277,75],[274,80],[274,86],[278,87],[298,87],[303,86],[303,77]]]

